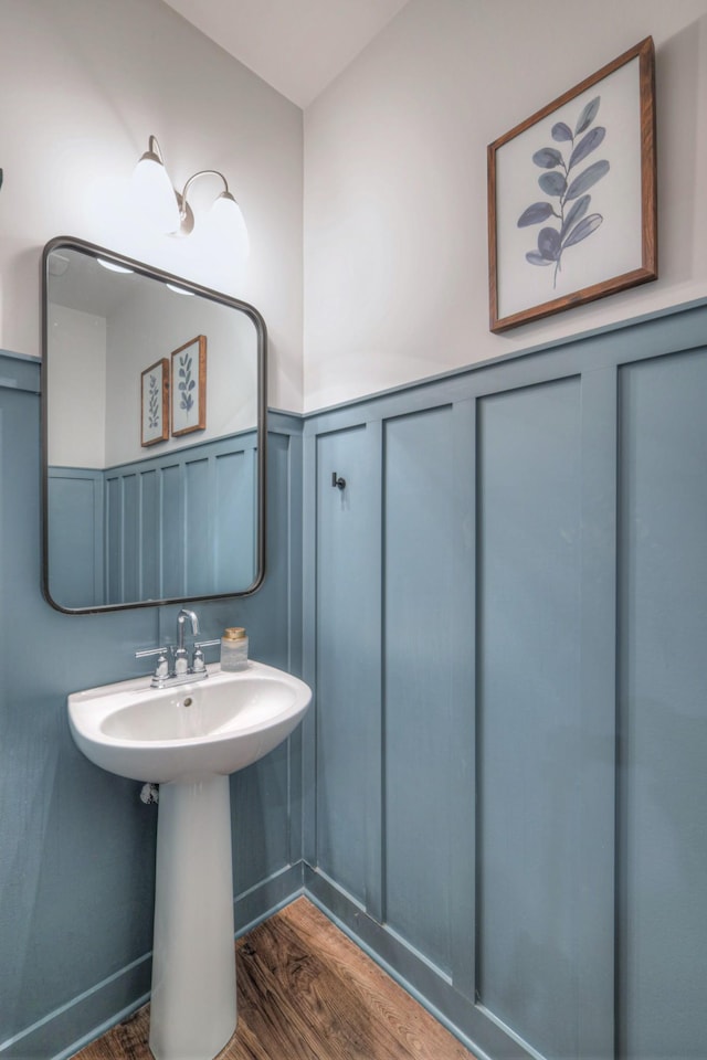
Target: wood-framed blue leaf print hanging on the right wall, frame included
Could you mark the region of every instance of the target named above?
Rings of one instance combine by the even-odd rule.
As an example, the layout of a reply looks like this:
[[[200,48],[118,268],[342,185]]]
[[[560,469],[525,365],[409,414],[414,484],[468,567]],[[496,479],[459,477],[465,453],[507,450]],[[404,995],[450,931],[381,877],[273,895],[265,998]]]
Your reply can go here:
[[[489,144],[487,162],[492,331],[656,279],[653,39]]]

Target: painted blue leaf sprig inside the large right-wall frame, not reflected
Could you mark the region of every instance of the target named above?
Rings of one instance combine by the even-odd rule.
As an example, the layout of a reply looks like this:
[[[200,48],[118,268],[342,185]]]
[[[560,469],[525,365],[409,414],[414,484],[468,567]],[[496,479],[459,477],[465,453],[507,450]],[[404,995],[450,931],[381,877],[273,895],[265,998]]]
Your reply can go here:
[[[557,220],[557,225],[546,224],[540,229],[537,247],[526,254],[530,265],[555,266],[553,287],[557,286],[564,251],[588,239],[603,221],[600,213],[588,214],[591,195],[587,192],[609,172],[609,162],[601,159],[577,172],[580,162],[597,150],[606,135],[603,126],[590,128],[599,113],[600,103],[601,96],[595,96],[582,108],[573,132],[564,121],[557,121],[552,126],[550,136],[556,144],[563,145],[562,149],[544,147],[532,156],[535,165],[546,170],[538,178],[540,190],[556,201],[531,203],[518,218],[517,225],[525,229],[531,224],[544,224],[552,218]]]

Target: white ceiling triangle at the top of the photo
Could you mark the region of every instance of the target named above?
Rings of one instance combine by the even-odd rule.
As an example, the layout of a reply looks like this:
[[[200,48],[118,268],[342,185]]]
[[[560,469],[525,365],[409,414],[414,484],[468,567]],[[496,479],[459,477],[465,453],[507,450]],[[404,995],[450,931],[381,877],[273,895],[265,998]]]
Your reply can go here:
[[[306,107],[408,0],[167,0],[298,107]]]

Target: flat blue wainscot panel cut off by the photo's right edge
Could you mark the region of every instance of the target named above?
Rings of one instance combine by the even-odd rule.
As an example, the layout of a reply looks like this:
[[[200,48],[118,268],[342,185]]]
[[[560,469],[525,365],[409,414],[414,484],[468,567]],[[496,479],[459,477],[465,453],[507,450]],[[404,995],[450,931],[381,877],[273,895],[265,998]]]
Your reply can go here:
[[[621,369],[620,1047],[707,1049],[707,351]]]

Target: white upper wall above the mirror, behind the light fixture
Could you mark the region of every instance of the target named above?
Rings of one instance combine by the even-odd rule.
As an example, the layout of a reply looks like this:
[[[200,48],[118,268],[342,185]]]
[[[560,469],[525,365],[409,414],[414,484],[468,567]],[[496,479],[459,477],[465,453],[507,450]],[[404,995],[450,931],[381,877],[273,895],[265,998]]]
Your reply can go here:
[[[256,306],[271,403],[299,409],[302,112],[161,0],[2,0],[0,92],[0,348],[39,354],[41,250],[78,236]],[[244,283],[197,233],[158,236],[133,213],[150,134],[180,188],[225,174],[251,236]]]

